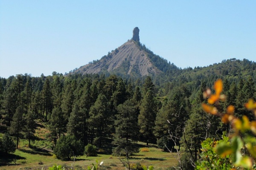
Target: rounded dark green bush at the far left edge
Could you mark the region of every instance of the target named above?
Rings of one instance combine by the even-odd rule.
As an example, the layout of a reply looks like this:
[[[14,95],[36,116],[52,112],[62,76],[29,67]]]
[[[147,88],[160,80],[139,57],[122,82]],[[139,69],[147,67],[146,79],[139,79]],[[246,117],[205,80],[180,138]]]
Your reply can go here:
[[[0,152],[4,154],[14,153],[16,150],[15,143],[8,132],[4,133],[3,138],[0,139]]]

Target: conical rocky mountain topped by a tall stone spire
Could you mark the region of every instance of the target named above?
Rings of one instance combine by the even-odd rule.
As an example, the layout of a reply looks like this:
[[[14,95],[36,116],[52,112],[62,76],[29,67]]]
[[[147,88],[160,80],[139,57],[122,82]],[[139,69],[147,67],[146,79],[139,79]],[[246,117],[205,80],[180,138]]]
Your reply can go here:
[[[100,60],[81,66],[76,72],[82,74],[112,73],[141,77],[157,75],[171,66],[167,60],[155,55],[141,45],[139,28],[133,30],[133,37]]]

